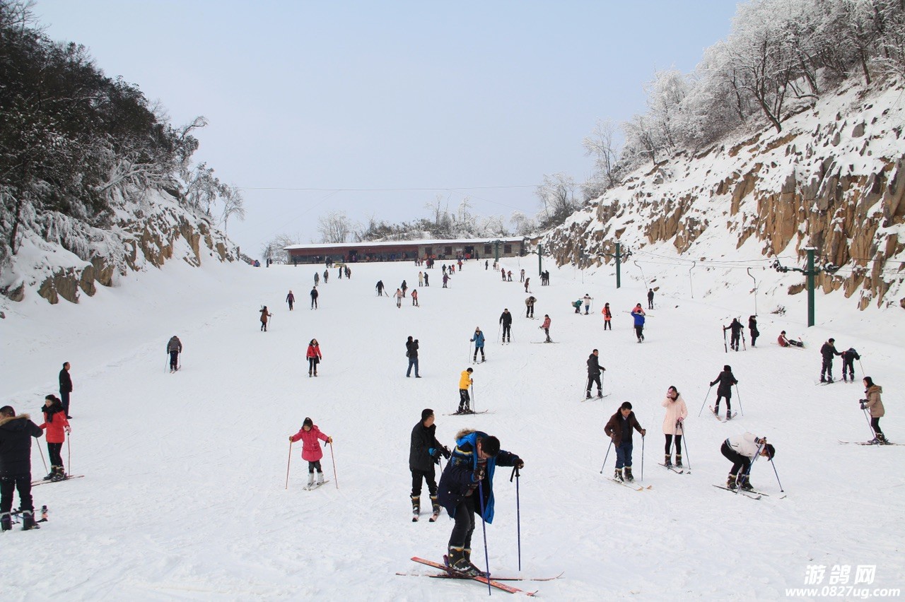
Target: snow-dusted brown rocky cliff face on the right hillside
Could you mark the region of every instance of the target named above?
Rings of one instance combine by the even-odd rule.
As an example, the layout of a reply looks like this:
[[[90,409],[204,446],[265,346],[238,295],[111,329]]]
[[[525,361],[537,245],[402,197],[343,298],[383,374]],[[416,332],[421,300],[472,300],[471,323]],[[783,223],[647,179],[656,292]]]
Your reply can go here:
[[[801,267],[810,246],[820,265],[842,266],[817,277],[824,293],[842,291],[861,309],[905,307],[903,104],[902,89],[843,89],[786,118],[780,133],[765,127],[646,165],[546,246],[557,263],[581,267],[612,261],[619,240],[633,259],[723,268],[753,259]],[[787,293],[800,282],[786,278]]]

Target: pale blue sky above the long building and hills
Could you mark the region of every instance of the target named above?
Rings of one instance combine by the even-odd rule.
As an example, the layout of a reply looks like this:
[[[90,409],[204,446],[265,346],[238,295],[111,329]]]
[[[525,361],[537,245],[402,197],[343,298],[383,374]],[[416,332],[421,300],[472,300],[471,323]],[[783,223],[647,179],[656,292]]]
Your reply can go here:
[[[656,69],[691,71],[736,3],[38,0],[52,39],[159,99],[204,115],[195,155],[243,188],[229,234],[257,257],[279,233],[316,240],[330,210],[367,221],[538,209],[543,174],[581,182],[599,118],[644,108]],[[466,190],[471,187],[528,186]],[[459,188],[339,192],[277,189]]]

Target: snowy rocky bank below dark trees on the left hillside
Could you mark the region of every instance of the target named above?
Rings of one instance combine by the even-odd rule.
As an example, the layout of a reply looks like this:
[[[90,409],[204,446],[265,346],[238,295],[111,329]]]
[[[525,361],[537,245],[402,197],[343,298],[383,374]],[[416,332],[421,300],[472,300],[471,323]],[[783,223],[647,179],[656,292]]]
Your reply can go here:
[[[3,267],[0,293],[22,301],[32,290],[52,304],[78,303],[82,293],[93,296],[98,284],[112,287],[129,272],[159,268],[167,260],[200,266],[239,259],[208,216],[186,210],[168,193],[119,195],[115,206],[104,229],[62,213],[35,216],[19,252]]]

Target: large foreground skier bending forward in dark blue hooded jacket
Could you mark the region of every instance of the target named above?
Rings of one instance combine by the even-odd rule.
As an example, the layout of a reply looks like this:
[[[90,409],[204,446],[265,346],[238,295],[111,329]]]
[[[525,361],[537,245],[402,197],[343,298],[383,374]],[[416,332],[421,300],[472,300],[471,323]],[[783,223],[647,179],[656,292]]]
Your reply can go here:
[[[493,474],[497,466],[521,469],[525,463],[519,456],[500,449],[497,437],[465,428],[456,434],[452,457],[440,476],[437,501],[455,520],[446,564],[466,575],[482,574],[472,564],[474,513],[480,512],[488,524],[493,522]]]

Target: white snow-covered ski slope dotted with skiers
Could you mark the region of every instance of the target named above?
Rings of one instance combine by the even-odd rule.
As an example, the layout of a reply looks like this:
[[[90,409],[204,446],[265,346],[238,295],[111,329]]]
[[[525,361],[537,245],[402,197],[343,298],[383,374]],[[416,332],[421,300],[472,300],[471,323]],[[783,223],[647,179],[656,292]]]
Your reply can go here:
[[[0,320],[2,402],[40,420],[43,396],[57,390],[62,362],[72,364],[71,470],[77,481],[34,490],[50,508],[41,531],[0,534],[0,597],[5,600],[98,599],[369,599],[461,600],[486,596],[471,581],[399,577],[425,573],[411,556],[441,560],[452,522],[410,520],[408,446],[421,410],[437,413],[446,445],[459,428],[481,428],[525,460],[520,479],[521,574],[562,578],[538,583],[550,600],[776,599],[805,586],[805,571],[824,565],[875,565],[872,588],[905,586],[905,452],[901,447],[843,446],[869,429],[857,400],[860,384],[814,386],[818,348],[834,336],[840,351],[862,353],[863,367],[883,386],[892,441],[905,441],[905,365],[899,310],[857,312],[843,298],[818,296],[818,325],[806,330],[804,295],[760,299],[782,303],[784,317],[760,315],[757,348],[723,351],[721,325],[753,313],[748,289],[705,302],[658,292],[646,340],[635,342],[631,307],[645,291],[630,278],[614,289],[611,268],[599,273],[551,268],[540,287],[536,259],[526,268],[538,298],[524,317],[519,282],[500,281],[483,261],[466,263],[442,288],[439,268],[401,309],[377,298],[382,278],[395,291],[417,283],[411,263],[355,264],[351,280],[330,270],[309,309],[316,269],[167,264],[101,288],[81,305],[49,306],[36,296],[5,303]],[[517,278],[516,278],[517,279]],[[584,280],[584,282],[582,282]],[[283,301],[292,289],[298,304]],[[592,315],[569,303],[595,297]],[[608,301],[614,329],[604,332]],[[709,305],[718,304],[719,306]],[[259,330],[259,309],[274,313]],[[504,307],[515,316],[512,343],[497,342]],[[553,320],[543,339],[540,319]],[[832,328],[827,325],[832,321]],[[470,363],[475,326],[487,335],[486,363],[474,365],[477,409],[495,413],[445,417],[458,401],[459,373]],[[804,351],[773,342],[785,329],[803,334]],[[746,329],[747,330],[747,329]],[[167,340],[185,345],[183,369],[166,369]],[[405,337],[421,344],[421,379],[406,379]],[[324,360],[309,378],[304,353],[319,340]],[[581,402],[586,358],[599,348],[604,400]],[[726,423],[698,411],[724,363],[739,385]],[[856,363],[857,376],[862,376]],[[834,375],[841,375],[836,360]],[[687,421],[691,475],[662,466],[661,402],[675,385]],[[707,404],[714,401],[710,392]],[[633,402],[648,435],[643,484],[613,484],[614,454],[600,474],[608,440],[605,420]],[[740,402],[740,403],[739,403]],[[723,406],[725,411],[725,406]],[[706,412],[706,409],[705,409]],[[324,468],[333,481],[304,490],[305,463],[288,437],[310,416],[334,438]],[[750,430],[776,445],[776,468],[788,496],[780,499],[772,468],[752,475],[769,494],[751,500],[722,491],[729,463],[719,454],[729,435]],[[635,437],[634,473],[642,473]],[[41,441],[46,456],[43,440]],[[67,449],[63,448],[64,461]],[[70,466],[67,466],[67,470]],[[43,475],[33,448],[33,475]],[[501,468],[496,518],[487,529],[491,570],[518,572],[516,487]],[[338,488],[336,484],[338,483]],[[426,489],[422,504],[427,512]],[[481,525],[474,557],[483,564]],[[865,587],[863,584],[858,587]],[[533,588],[532,588],[533,589]],[[494,597],[508,594],[495,592]]]

